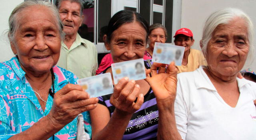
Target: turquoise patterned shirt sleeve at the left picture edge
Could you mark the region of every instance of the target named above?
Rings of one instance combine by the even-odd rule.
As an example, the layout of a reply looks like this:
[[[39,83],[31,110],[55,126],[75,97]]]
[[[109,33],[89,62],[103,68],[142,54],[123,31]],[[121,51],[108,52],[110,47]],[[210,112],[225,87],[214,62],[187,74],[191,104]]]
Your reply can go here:
[[[5,96],[5,92],[2,90],[2,87],[0,89],[0,140],[7,140],[11,136],[17,134],[17,132],[14,132],[12,130],[12,124],[13,122],[10,119],[11,113],[10,113],[10,105],[8,104],[8,101],[6,100],[7,97]]]

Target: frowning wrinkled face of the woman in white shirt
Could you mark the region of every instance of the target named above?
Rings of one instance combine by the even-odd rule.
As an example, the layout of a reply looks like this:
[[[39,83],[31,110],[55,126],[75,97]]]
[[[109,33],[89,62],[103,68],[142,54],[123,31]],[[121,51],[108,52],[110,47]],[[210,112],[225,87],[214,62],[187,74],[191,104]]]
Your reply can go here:
[[[229,24],[218,25],[207,46],[206,60],[217,76],[233,76],[244,66],[249,51],[247,25],[235,18]]]

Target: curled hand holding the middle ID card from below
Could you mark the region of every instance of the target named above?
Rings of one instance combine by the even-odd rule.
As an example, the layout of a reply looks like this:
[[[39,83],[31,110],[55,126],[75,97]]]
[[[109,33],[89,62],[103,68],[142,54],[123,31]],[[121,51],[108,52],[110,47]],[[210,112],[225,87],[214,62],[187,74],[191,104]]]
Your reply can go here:
[[[110,103],[116,107],[116,110],[123,115],[133,114],[140,109],[144,96],[139,94],[140,86],[135,84],[134,80],[128,81],[128,78],[122,78],[114,87],[114,93],[110,97]],[[134,102],[137,98],[136,103]]]

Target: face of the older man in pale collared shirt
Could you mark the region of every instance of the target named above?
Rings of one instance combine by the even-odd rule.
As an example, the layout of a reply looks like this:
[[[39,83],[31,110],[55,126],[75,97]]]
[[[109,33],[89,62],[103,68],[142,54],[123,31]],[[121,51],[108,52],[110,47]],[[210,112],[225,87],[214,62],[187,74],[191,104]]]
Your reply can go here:
[[[80,4],[62,1],[59,8],[60,19],[64,25],[64,33],[66,35],[74,35],[82,25],[83,16],[80,16]]]

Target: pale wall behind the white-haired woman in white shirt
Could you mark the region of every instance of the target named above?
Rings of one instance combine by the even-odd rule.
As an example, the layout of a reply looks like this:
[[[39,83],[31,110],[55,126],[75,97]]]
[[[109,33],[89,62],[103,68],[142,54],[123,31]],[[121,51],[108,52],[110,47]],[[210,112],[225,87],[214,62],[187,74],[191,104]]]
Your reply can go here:
[[[192,30],[195,38],[192,48],[200,50],[199,41],[202,38],[202,28],[206,18],[213,12],[226,7],[243,10],[250,16],[254,26],[256,25],[256,0],[182,0],[181,27]],[[256,55],[256,52],[254,55]],[[245,66],[245,68],[248,67],[256,71],[256,60],[249,66]]]

